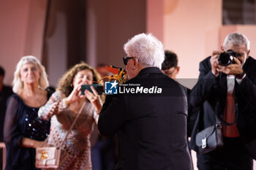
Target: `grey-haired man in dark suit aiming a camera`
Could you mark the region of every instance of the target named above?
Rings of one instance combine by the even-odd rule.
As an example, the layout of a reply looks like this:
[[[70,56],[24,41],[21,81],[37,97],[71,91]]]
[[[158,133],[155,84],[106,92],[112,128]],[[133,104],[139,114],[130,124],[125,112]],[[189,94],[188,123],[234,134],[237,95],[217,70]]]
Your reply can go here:
[[[221,49],[200,62],[190,102],[201,109],[189,147],[197,152],[200,170],[252,170],[252,158],[256,158],[256,61],[249,56],[249,40],[243,34],[228,34]],[[200,141],[197,134],[212,125],[221,128],[222,135],[214,137],[222,142],[218,149],[202,152],[211,147],[212,139],[205,136]]]

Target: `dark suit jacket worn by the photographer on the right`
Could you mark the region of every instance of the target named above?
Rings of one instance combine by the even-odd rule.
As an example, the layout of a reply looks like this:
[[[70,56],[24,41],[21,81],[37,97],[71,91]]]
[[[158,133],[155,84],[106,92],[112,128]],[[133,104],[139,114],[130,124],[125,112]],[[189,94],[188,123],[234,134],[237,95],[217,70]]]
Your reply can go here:
[[[250,143],[249,152],[256,158],[256,150],[252,143],[256,139],[256,61],[252,57],[246,59],[243,66],[246,77],[238,85],[235,83],[235,102],[238,106],[236,123],[244,144]],[[227,98],[227,75],[219,73],[217,78],[211,73],[210,57],[200,62],[200,76],[190,94],[190,102],[194,107],[201,107],[197,116],[189,147],[195,151],[195,135],[198,131],[216,123],[215,115],[222,117]],[[217,103],[219,103],[217,107]],[[252,149],[251,149],[252,148]]]

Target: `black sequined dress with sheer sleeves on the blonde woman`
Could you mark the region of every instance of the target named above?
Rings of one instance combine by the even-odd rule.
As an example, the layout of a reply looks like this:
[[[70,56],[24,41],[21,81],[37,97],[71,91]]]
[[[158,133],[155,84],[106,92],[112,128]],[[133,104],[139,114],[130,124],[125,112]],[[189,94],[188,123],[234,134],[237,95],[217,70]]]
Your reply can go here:
[[[48,98],[51,93],[48,91]],[[34,170],[35,150],[21,147],[22,138],[38,141],[46,139],[50,133],[50,120],[41,120],[37,112],[39,107],[29,107],[17,94],[8,99],[4,120],[4,143],[7,148],[5,170]]]

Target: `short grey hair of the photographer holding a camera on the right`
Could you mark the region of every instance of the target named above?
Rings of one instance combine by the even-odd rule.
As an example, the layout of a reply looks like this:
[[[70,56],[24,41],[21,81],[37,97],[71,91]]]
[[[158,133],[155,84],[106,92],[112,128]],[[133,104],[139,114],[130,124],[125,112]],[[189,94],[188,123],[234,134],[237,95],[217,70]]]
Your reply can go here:
[[[230,43],[234,46],[246,45],[247,52],[250,49],[249,39],[245,35],[237,33],[237,32],[228,34],[226,36],[226,38],[223,42],[223,47],[224,47],[225,50],[228,50],[228,49],[226,49],[228,43]]]

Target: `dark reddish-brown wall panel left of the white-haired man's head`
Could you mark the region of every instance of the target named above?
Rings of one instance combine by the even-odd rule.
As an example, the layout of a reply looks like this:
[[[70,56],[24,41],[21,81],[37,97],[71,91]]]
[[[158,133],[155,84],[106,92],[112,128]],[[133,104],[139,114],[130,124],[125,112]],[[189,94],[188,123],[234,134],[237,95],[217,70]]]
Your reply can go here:
[[[145,6],[146,0],[88,0],[86,62],[124,66],[124,43],[146,31]]]

